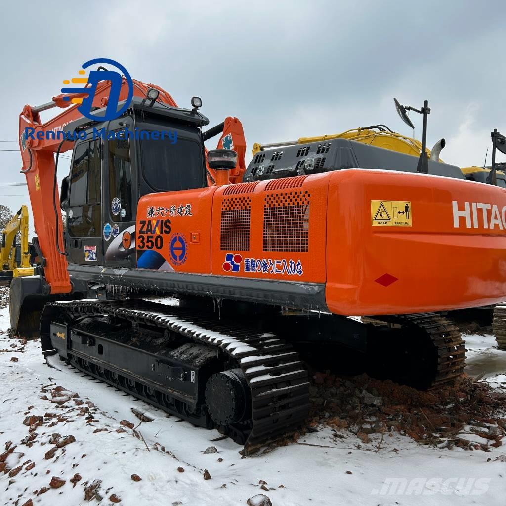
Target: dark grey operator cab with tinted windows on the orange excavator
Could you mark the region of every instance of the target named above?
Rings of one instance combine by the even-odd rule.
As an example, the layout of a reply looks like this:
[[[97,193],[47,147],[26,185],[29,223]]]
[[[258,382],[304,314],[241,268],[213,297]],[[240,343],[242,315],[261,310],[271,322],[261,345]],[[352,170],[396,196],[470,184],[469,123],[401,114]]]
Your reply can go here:
[[[207,186],[200,131],[207,123],[196,110],[134,97],[115,120],[67,126],[67,137],[78,139],[60,196],[70,264],[136,267],[140,197]]]

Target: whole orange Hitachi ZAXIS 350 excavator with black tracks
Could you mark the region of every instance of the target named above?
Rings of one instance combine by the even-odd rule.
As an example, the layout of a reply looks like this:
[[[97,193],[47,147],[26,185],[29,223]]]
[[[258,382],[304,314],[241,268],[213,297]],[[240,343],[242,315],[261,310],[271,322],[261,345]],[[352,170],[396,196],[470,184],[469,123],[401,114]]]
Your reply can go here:
[[[438,312],[504,300],[506,190],[346,139],[266,149],[246,168],[236,118],[202,132],[200,99],[178,108],[135,81],[125,103],[126,86],[115,119],[72,106],[41,123],[62,96],[20,116],[41,259],[13,280],[20,335],[246,451],[306,418],[305,360],[329,345],[417,388],[461,374],[465,344]],[[58,198],[54,153],[71,148]]]

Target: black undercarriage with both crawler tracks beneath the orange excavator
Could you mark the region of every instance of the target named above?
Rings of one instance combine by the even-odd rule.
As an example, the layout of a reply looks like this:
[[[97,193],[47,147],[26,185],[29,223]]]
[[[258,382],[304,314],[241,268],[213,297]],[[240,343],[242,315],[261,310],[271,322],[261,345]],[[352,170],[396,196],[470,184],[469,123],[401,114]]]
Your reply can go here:
[[[465,344],[440,315],[357,320],[246,305],[232,313],[195,301],[65,301],[45,307],[40,336],[45,355],[217,428],[249,453],[304,423],[310,375],[346,349],[370,374],[420,389],[463,370]],[[337,348],[324,357],[325,346]]]

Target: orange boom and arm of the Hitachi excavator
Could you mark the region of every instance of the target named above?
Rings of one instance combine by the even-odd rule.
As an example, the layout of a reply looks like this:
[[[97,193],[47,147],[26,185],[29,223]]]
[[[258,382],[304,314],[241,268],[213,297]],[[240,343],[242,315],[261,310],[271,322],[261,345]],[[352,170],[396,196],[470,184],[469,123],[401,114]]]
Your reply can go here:
[[[134,96],[145,98],[149,89],[154,88],[160,92],[158,102],[177,107],[171,95],[158,86],[136,79],[133,79],[133,85]],[[102,80],[98,83],[93,98],[94,108],[107,106],[110,89],[110,81]],[[128,94],[129,85],[123,77],[119,101],[126,100]],[[40,106],[26,105],[19,116],[19,147],[23,160],[21,172],[25,174],[28,184],[35,232],[41,252],[40,265],[44,269],[43,292],[45,294],[69,293],[72,289],[66,258],[59,253],[63,251],[63,223],[57,191],[55,153],[58,155],[72,149],[73,143],[61,141],[61,136],[58,138],[58,132],[63,131],[68,123],[82,117],[78,107],[85,96],[87,94],[62,94]],[[65,110],[46,123],[41,121],[40,112],[54,107]],[[26,135],[26,129],[30,129],[29,136]],[[232,183],[240,182],[246,168],[244,163],[246,142],[241,122],[237,118],[225,119],[218,147],[229,147],[237,151],[238,164],[232,171],[230,180]],[[214,184],[215,175],[215,171],[207,165],[209,186]]]

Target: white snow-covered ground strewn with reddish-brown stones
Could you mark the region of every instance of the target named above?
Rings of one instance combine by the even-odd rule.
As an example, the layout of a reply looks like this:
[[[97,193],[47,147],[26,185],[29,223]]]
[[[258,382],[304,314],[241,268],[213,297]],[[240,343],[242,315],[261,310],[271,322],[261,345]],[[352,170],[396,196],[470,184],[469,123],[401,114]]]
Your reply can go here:
[[[8,326],[3,309],[0,329]],[[506,376],[494,375],[504,371],[497,367],[506,352],[493,349],[491,336],[466,339],[473,374],[486,369],[491,377],[482,381],[504,386]],[[488,367],[487,357],[496,359],[497,367]],[[58,386],[65,391],[55,391]],[[132,408],[154,420],[141,423]],[[23,425],[30,415],[35,416],[27,423],[33,425]],[[75,441],[63,446],[72,441],[65,436]],[[288,446],[243,457],[240,446],[229,439],[215,441],[219,437],[55,357],[44,363],[38,341],[22,345],[0,335],[0,453],[12,450],[0,455],[10,470],[0,472],[0,504],[113,504],[119,499],[135,506],[237,506],[262,493],[273,506],[503,506],[506,497],[504,447],[443,450],[398,434],[364,444],[347,431],[321,429]]]

